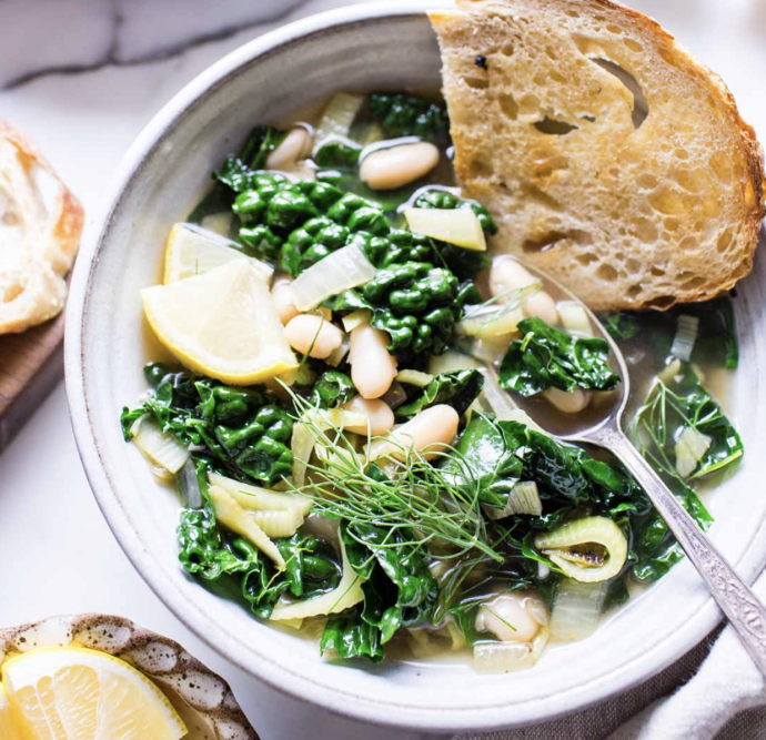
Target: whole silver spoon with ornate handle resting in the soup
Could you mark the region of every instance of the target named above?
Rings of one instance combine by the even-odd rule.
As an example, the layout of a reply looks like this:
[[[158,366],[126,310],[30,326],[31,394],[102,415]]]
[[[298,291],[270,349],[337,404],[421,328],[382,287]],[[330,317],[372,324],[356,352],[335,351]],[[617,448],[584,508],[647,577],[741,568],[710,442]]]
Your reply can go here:
[[[766,607],[736,574],[715,545],[710,543],[697,523],[678,503],[669,488],[623,432],[623,413],[631,395],[631,377],[623,353],[593,312],[576,295],[533,265],[523,264],[526,270],[541,280],[543,285],[555,286],[554,294],[565,295],[568,300],[583,306],[592,325],[608,343],[614,365],[616,365],[616,367],[613,366],[613,369],[619,373],[622,383],[615,392],[614,402],[609,406],[599,406],[601,413],[591,413],[585,417],[581,415],[567,416],[564,419],[565,424],[553,430],[547,428],[551,426],[550,419],[540,419],[542,408],[540,402],[536,403],[521,396],[518,398],[514,396],[514,399],[555,439],[598,445],[608,449],[623,463],[646,491],[688,559],[705,579],[710,595],[737,631],[755,665],[766,677]],[[578,419],[582,420],[578,423]]]

